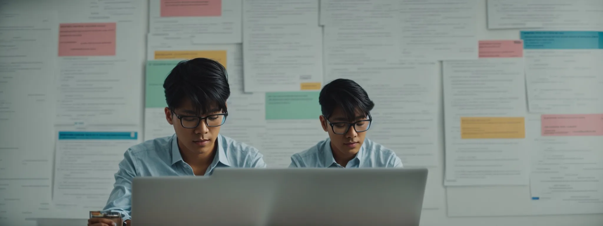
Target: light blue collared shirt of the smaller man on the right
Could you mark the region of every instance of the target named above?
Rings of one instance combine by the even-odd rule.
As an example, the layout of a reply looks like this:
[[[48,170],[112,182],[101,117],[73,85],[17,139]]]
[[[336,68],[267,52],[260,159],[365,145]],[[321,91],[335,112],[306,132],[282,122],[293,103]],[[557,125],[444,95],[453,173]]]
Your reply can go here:
[[[291,156],[289,168],[344,168],[335,162],[330,143],[331,139],[327,138],[306,151],[295,153]],[[402,167],[402,161],[390,149],[365,138],[358,154],[347,163],[345,168],[384,167]]]

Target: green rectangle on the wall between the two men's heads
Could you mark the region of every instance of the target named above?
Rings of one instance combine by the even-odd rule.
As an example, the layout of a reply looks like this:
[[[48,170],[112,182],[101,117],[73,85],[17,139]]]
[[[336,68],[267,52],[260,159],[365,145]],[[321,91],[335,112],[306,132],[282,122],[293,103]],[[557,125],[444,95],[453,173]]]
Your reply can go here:
[[[318,119],[320,92],[266,93],[266,119]]]

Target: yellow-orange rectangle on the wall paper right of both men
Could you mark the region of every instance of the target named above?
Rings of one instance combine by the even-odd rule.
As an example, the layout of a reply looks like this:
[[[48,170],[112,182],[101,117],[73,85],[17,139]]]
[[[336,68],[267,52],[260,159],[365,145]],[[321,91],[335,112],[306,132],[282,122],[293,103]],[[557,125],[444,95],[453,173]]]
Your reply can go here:
[[[523,117],[463,117],[461,139],[525,138]]]

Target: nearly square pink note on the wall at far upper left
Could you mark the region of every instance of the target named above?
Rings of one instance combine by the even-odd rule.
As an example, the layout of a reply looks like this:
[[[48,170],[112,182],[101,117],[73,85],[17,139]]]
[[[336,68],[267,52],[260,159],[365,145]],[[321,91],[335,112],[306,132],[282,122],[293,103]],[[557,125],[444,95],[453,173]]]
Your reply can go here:
[[[115,23],[60,24],[58,56],[115,55]]]

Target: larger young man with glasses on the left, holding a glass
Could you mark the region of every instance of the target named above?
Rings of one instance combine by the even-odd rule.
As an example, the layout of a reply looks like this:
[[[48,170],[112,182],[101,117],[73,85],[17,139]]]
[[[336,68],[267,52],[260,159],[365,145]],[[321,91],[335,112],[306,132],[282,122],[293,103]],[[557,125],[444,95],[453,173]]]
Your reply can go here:
[[[165,118],[174,126],[175,134],[148,140],[125,152],[104,208],[121,213],[127,220],[124,225],[131,219],[134,177],[211,175],[216,167],[266,167],[256,148],[219,134],[228,116],[226,100],[230,96],[226,69],[221,64],[207,58],[182,61],[169,73],[163,89],[168,105]],[[113,225],[103,218],[92,218],[88,223]]]

